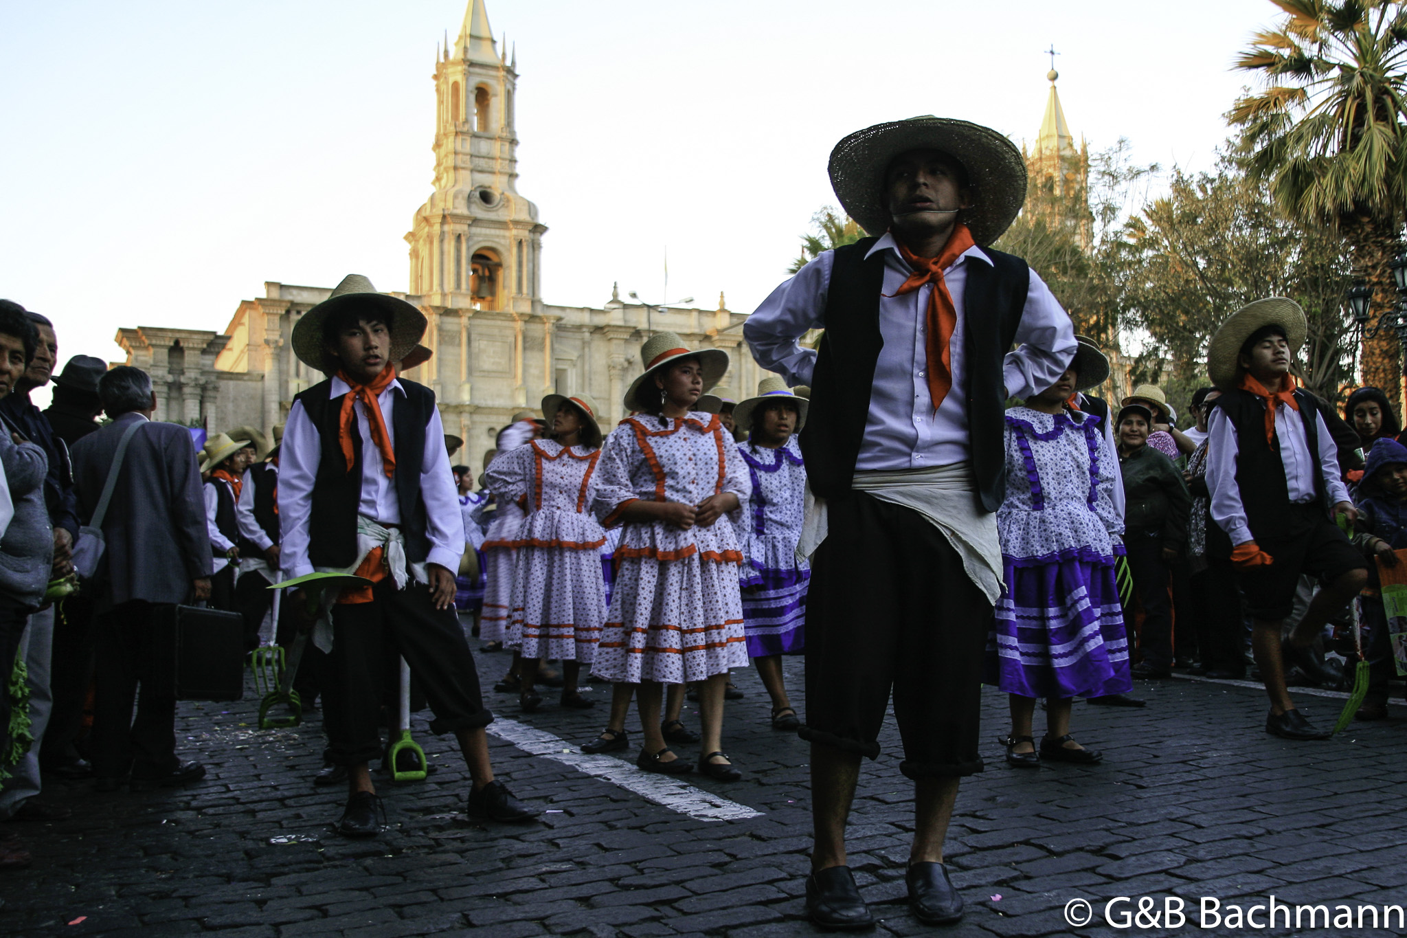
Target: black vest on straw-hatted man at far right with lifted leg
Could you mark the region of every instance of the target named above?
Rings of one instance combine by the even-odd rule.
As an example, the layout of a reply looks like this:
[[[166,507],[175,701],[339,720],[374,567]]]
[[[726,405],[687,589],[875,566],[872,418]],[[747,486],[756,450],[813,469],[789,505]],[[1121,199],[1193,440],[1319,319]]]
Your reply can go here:
[[[1318,471],[1318,420],[1316,418],[1320,408],[1314,398],[1303,391],[1296,391],[1294,399],[1300,402],[1299,419],[1304,422],[1304,439],[1314,463],[1314,494],[1320,508],[1327,513],[1330,508],[1328,492],[1324,488],[1324,474]],[[1237,388],[1225,391],[1217,398],[1217,406],[1235,428],[1235,482],[1241,491],[1241,505],[1245,508],[1245,520],[1251,527],[1251,536],[1259,540],[1294,533],[1296,516],[1285,510],[1290,503],[1290,487],[1285,478],[1285,464],[1280,461],[1280,435],[1276,433],[1269,444],[1265,442],[1265,404],[1259,397]],[[1296,419],[1293,411],[1289,412],[1289,418]],[[1279,423],[1279,418],[1276,423]],[[1228,555],[1231,540],[1225,537],[1220,526],[1213,525],[1213,527],[1214,533],[1220,534],[1214,539],[1216,544],[1224,548],[1223,555]]]

